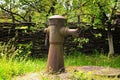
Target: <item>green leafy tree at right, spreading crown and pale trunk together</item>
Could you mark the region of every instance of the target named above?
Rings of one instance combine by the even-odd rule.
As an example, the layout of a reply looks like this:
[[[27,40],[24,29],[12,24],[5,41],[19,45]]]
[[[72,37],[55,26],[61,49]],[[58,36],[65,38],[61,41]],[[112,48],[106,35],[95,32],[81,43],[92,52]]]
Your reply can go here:
[[[114,54],[113,37],[111,30],[114,28],[113,19],[119,7],[119,0],[62,0],[67,4],[72,3],[69,16],[80,16],[83,22],[92,27],[102,28],[108,32],[109,56]],[[70,2],[71,1],[71,2]],[[65,3],[63,3],[65,4]],[[74,14],[73,14],[74,12]],[[75,19],[75,18],[74,18]],[[73,19],[73,21],[75,21]]]

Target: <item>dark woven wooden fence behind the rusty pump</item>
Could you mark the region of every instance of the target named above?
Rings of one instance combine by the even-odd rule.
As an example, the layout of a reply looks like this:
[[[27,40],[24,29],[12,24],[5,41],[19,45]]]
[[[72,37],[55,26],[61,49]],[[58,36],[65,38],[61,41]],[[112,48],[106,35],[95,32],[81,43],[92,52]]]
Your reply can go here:
[[[7,25],[7,24],[6,24]],[[16,24],[18,25],[18,24]],[[24,24],[25,25],[25,24]],[[28,23],[26,24],[28,25]],[[29,24],[30,25],[30,24]],[[32,24],[33,25],[33,24]],[[5,26],[5,25],[4,25]],[[73,25],[72,25],[73,26]],[[71,27],[71,28],[76,28]],[[42,56],[48,53],[48,47],[45,46],[45,33],[43,29],[37,31],[25,32],[25,29],[8,29],[0,28],[0,41],[8,41],[10,38],[16,35],[17,32],[17,44],[29,44],[32,42],[32,56]],[[101,37],[96,37],[94,34],[102,34]],[[120,52],[120,28],[115,28],[113,33],[115,53]],[[83,53],[93,53],[95,50],[108,52],[107,31],[102,29],[82,29],[80,30],[79,38],[88,38],[88,43],[83,44],[83,48],[77,47],[79,43],[74,42],[74,38],[71,36],[65,39],[65,53],[73,53],[75,50]]]

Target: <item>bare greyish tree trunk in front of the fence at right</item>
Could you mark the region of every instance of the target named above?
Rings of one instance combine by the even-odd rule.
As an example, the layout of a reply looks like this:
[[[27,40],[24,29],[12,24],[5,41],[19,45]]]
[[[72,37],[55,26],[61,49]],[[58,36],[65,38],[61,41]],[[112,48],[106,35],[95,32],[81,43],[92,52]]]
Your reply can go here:
[[[114,45],[113,45],[113,35],[111,33],[111,29],[108,29],[108,45],[109,45],[108,56],[112,56],[114,54]]]

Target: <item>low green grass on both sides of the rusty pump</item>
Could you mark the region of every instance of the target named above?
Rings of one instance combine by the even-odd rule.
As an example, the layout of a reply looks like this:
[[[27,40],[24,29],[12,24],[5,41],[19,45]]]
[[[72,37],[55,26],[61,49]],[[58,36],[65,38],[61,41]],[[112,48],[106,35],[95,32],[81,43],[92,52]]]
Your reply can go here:
[[[11,79],[13,76],[23,75],[29,72],[45,71],[46,58],[39,59],[0,59],[0,80]],[[108,58],[105,55],[85,55],[75,53],[73,55],[65,55],[65,66],[109,66],[120,68],[120,56]]]

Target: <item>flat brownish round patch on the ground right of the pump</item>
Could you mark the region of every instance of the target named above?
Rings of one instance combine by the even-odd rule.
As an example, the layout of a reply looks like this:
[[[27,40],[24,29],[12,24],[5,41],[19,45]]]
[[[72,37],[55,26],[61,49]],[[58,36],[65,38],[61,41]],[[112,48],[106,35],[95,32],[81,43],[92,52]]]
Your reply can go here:
[[[83,72],[92,72],[95,75],[99,76],[120,76],[120,69],[110,68],[110,67],[102,67],[102,66],[82,66],[76,67],[76,71],[83,71]]]

